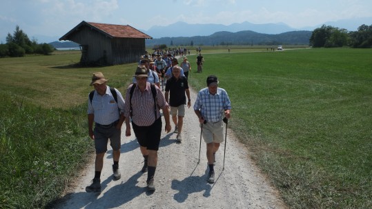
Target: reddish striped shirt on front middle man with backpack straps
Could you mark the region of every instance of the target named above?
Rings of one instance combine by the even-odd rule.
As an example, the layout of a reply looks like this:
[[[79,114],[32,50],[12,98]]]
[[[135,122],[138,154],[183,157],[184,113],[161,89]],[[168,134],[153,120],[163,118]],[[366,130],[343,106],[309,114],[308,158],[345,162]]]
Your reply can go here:
[[[154,111],[154,98],[153,92],[151,92],[150,83],[146,82],[147,86],[144,92],[139,90],[139,87],[136,86],[135,90],[133,90],[132,95],[132,121],[137,126],[151,126],[155,122],[155,111]],[[126,90],[126,104],[124,107],[124,116],[130,117],[130,88],[132,88],[133,84],[131,84],[128,89]],[[157,90],[156,94],[156,102],[157,102],[157,119],[160,117],[160,109],[161,108],[168,108],[168,103],[164,98],[163,93],[161,90],[155,86]]]

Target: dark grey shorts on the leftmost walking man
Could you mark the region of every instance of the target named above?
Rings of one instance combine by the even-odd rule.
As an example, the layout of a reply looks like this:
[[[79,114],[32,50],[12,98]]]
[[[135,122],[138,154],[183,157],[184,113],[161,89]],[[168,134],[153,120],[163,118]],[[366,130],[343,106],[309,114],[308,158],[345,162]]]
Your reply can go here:
[[[108,139],[110,139],[112,150],[120,150],[121,129],[117,129],[116,124],[110,128],[104,128],[96,124],[93,135],[95,136],[96,154],[107,152]]]

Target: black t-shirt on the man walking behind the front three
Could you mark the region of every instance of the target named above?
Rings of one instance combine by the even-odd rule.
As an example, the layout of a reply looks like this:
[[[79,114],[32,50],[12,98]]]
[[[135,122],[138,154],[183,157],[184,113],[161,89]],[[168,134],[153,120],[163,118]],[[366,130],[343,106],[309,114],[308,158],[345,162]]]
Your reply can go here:
[[[178,107],[186,104],[185,90],[188,89],[188,82],[186,77],[179,76],[178,80],[171,77],[166,81],[166,92],[169,91],[169,105]]]

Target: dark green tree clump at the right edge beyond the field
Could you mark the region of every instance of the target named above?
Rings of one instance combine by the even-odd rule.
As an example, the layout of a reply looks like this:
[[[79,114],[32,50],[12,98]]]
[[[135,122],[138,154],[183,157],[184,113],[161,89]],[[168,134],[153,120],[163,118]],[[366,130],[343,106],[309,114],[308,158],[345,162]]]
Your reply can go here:
[[[371,48],[372,47],[372,25],[359,26],[358,31],[347,31],[346,29],[335,28],[323,25],[313,30],[310,38],[310,45],[313,47],[343,47]]]

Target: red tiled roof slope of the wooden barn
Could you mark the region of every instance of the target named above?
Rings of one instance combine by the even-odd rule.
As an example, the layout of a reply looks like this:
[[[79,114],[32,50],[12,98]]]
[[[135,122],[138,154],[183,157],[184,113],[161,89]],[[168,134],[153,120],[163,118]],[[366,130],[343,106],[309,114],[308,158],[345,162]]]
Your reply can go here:
[[[152,37],[148,36],[144,32],[141,32],[131,26],[121,26],[121,25],[112,25],[112,24],[104,24],[104,23],[91,23],[87,22],[91,26],[109,34],[112,37],[116,38],[143,38],[143,39],[152,39]]]

